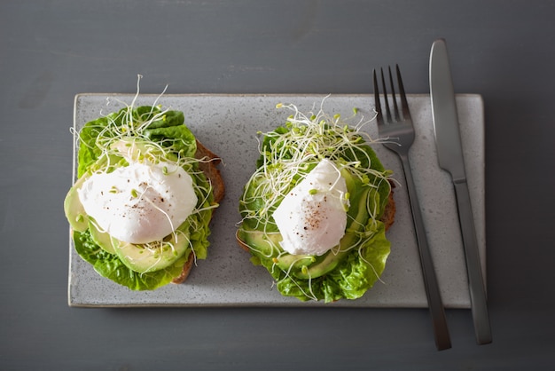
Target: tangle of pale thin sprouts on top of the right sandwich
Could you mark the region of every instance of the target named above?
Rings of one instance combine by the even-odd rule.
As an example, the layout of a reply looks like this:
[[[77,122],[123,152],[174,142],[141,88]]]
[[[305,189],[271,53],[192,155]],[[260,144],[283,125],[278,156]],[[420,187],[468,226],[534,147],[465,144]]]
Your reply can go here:
[[[264,225],[271,223],[271,214],[285,194],[324,158],[340,170],[349,171],[364,186],[377,187],[390,175],[371,168],[371,157],[364,146],[374,140],[360,130],[363,122],[353,127],[340,114],[330,116],[323,108],[317,113],[303,114],[293,104],[279,103],[276,107],[288,108],[293,114],[285,122],[287,130],[265,133],[261,141],[262,166],[246,184],[246,189],[253,192],[245,193],[241,199],[243,220],[254,218]],[[262,199],[262,209],[248,209],[255,199]]]

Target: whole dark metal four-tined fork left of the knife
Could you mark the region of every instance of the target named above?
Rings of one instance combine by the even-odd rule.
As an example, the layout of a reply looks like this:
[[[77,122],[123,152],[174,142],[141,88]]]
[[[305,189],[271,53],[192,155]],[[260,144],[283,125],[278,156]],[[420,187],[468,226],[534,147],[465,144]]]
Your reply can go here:
[[[395,87],[393,83],[393,75],[391,74],[391,67],[387,67],[387,69],[389,71],[389,85],[391,87],[391,100],[393,101],[394,116],[392,117],[389,103],[387,102],[387,89],[386,79],[384,78],[384,71],[383,68],[380,68],[381,86],[383,89],[384,106],[386,108],[385,120],[379,102],[378,78],[376,76],[376,70],[373,71],[374,99],[377,112],[376,121],[378,122],[379,138],[386,139],[386,141],[382,143],[383,146],[395,152],[395,154],[399,156],[403,164],[403,171],[405,175],[407,189],[409,190],[409,201],[410,209],[412,212],[412,220],[414,222],[414,229],[416,231],[418,242],[420,264],[422,265],[422,272],[424,275],[426,297],[430,314],[432,316],[435,345],[439,351],[442,351],[451,347],[451,341],[449,338],[449,330],[447,328],[447,320],[445,318],[445,310],[442,304],[442,296],[440,294],[440,288],[435,276],[434,262],[432,259],[430,248],[428,246],[428,241],[426,239],[426,230],[418,203],[418,194],[416,192],[416,187],[414,186],[412,172],[410,171],[409,149],[414,142],[415,131],[412,124],[412,119],[410,117],[409,104],[407,102],[407,96],[404,92],[403,80],[401,78],[401,71],[399,70],[399,66],[395,65],[395,69],[397,75],[397,83],[399,87],[399,97],[401,99],[401,111],[399,110],[395,97]]]

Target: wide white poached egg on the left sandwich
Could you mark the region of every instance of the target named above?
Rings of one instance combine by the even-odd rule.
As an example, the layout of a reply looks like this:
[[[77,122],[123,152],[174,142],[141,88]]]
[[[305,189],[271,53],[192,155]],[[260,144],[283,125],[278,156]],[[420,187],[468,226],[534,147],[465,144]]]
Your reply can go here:
[[[170,162],[135,161],[94,173],[77,193],[100,230],[135,244],[173,233],[197,204],[192,177]]]

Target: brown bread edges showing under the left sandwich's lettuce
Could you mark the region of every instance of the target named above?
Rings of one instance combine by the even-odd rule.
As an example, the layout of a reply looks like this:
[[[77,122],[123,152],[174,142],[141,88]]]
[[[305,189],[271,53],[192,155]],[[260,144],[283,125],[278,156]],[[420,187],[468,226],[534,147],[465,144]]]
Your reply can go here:
[[[223,200],[225,194],[225,185],[223,183],[222,174],[218,169],[218,165],[222,162],[222,159],[210,151],[206,146],[202,145],[197,139],[197,152],[195,158],[199,159],[199,168],[202,170],[204,175],[207,177],[208,181],[212,185],[212,191],[214,193],[215,203],[219,203]],[[189,272],[191,272],[192,265],[194,263],[194,254],[189,255],[189,259],[184,264],[183,271],[181,274],[172,280],[172,283],[183,283],[189,277]]]

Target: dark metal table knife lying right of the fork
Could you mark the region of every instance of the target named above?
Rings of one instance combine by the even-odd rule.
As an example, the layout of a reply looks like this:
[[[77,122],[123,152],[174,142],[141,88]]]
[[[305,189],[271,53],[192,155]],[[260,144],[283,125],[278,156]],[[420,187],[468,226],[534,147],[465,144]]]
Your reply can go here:
[[[433,43],[430,53],[430,96],[439,164],[443,170],[450,173],[457,196],[458,220],[463,235],[476,341],[479,344],[491,343],[486,288],[481,271],[473,210],[466,183],[457,103],[451,79],[447,45],[443,39]]]

